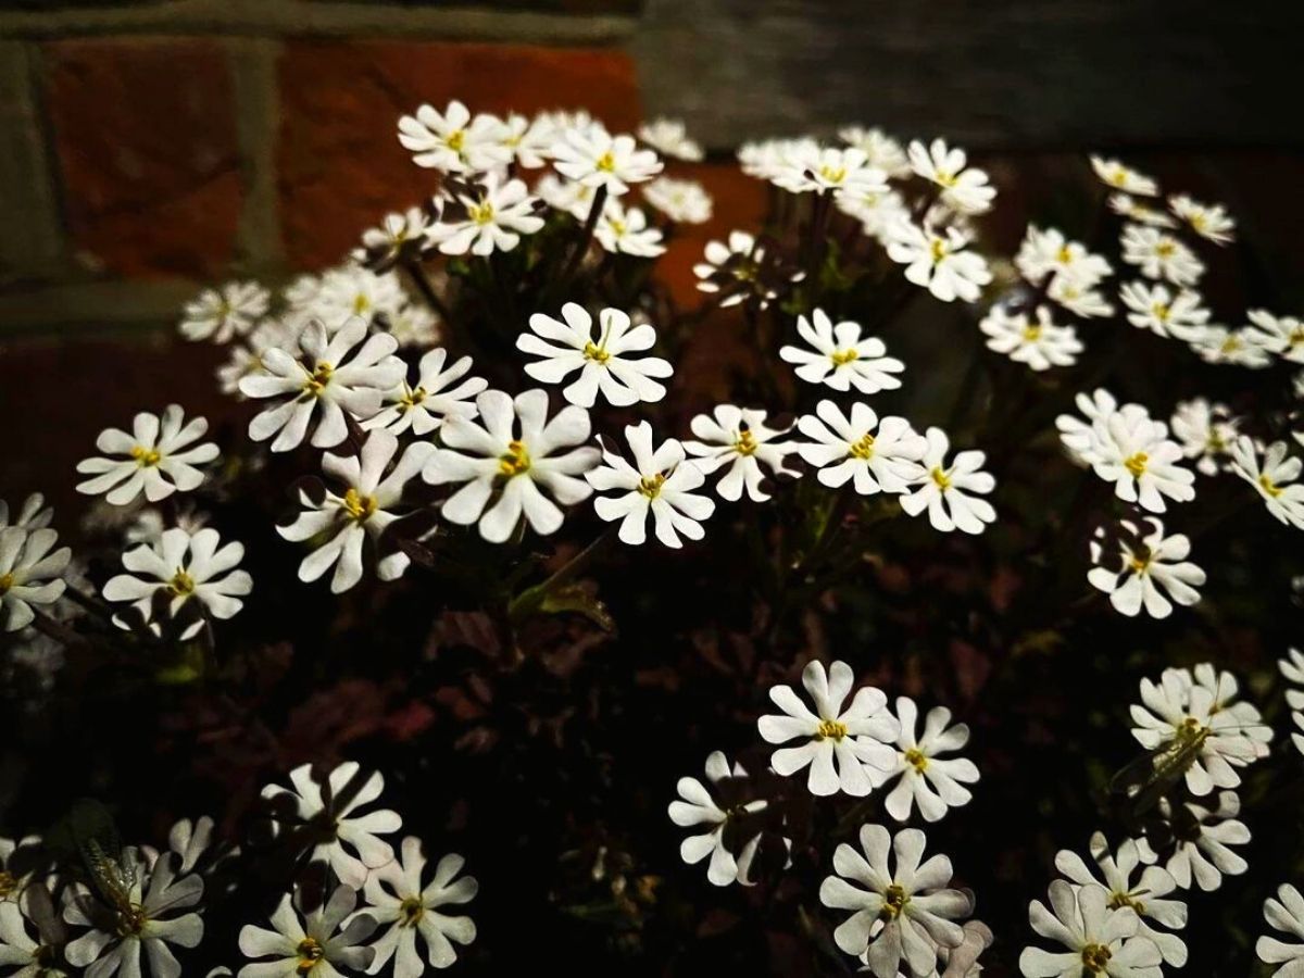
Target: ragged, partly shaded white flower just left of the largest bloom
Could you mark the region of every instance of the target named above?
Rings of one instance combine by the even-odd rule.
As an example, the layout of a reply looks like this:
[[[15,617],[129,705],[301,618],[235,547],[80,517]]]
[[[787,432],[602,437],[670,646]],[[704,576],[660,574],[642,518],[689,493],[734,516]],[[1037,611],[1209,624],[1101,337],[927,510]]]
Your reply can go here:
[[[402,519],[403,514],[394,507],[436,449],[430,442],[413,442],[386,473],[398,451],[399,441],[394,434],[374,430],[366,436],[357,455],[322,455],[322,471],[340,484],[340,492],[326,489],[316,498],[308,489],[300,489],[299,502],[304,510],[293,523],[276,528],[286,540],[295,542],[323,537],[299,565],[300,580],[317,580],[334,566],[330,589],[338,595],[363,579],[363,544],[368,537],[378,544],[385,531]],[[377,558],[376,576],[396,580],[409,563],[402,550],[383,553]]]

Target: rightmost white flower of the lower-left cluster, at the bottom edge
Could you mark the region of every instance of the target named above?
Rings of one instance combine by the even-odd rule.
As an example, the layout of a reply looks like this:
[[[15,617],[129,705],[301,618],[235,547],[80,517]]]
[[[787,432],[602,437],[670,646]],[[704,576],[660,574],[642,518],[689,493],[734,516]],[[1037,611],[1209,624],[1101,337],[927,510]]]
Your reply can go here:
[[[376,957],[368,974],[379,974],[394,958],[394,978],[417,978],[425,971],[416,949],[417,934],[425,940],[426,958],[432,968],[447,968],[458,960],[452,943],[469,944],[476,939],[476,925],[469,917],[451,917],[441,908],[466,904],[480,891],[472,876],[456,879],[466,865],[458,854],[445,855],[434,867],[434,876],[421,885],[425,855],[421,840],[403,840],[399,859],[366,878],[366,902],[363,911],[389,930],[372,944]]]

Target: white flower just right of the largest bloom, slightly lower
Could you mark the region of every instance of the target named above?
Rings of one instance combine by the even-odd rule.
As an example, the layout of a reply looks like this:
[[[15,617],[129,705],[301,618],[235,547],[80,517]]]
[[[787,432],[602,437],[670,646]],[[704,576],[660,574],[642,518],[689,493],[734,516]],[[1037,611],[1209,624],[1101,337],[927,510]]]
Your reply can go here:
[[[685,459],[683,445],[668,438],[660,447],[652,445],[652,425],[640,421],[626,425],[625,439],[634,455],[630,464],[614,451],[604,449],[602,466],[584,473],[597,492],[621,490],[619,496],[599,496],[593,510],[608,523],[621,522],[618,536],[626,544],[647,540],[647,518],[652,514],[656,539],[666,546],[682,546],[679,535],[702,540],[702,520],[716,511],[705,496],[692,492],[707,481],[694,463]]]

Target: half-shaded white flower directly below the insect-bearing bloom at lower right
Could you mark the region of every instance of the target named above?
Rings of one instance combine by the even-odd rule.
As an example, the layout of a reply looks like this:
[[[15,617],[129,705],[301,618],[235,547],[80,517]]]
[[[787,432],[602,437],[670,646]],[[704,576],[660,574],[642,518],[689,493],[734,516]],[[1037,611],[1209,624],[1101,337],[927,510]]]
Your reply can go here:
[[[1219,792],[1218,807],[1213,810],[1193,802],[1174,810],[1167,798],[1161,798],[1159,814],[1171,820],[1174,835],[1174,850],[1163,867],[1183,889],[1189,889],[1194,880],[1205,892],[1213,892],[1222,885],[1223,874],[1239,876],[1249,868],[1249,863],[1231,850],[1249,841],[1245,823],[1236,820],[1240,798],[1235,792]],[[1146,840],[1137,840],[1137,849],[1142,862],[1159,861]]]

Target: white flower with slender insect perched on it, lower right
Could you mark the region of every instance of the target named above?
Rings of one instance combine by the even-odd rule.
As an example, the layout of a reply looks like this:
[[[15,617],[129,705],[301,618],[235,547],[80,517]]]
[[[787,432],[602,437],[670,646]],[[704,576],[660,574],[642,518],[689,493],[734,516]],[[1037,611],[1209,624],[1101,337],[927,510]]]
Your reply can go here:
[[[1236,788],[1236,768],[1258,759],[1251,732],[1260,722],[1219,705],[1214,691],[1168,669],[1158,683],[1141,679],[1141,703],[1131,708],[1132,735],[1155,752],[1155,769],[1185,769],[1187,788],[1196,797]]]

